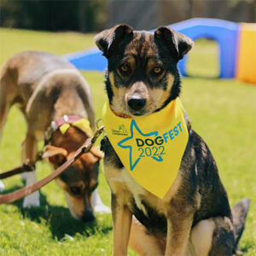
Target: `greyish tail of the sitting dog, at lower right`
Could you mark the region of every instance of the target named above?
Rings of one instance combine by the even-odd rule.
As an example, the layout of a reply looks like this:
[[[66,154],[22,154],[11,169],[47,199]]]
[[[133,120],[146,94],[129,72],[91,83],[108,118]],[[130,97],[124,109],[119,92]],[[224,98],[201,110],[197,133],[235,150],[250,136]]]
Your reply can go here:
[[[250,207],[250,203],[250,200],[248,200],[247,198],[243,198],[231,210],[235,235],[234,252],[236,252],[238,242],[245,227],[245,221],[247,218],[247,212]]]

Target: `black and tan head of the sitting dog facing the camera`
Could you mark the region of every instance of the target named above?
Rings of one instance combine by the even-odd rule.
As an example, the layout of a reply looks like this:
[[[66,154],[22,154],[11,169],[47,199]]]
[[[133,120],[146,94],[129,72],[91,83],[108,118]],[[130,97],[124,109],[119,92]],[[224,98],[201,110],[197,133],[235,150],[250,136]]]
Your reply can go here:
[[[117,115],[148,115],[179,95],[177,61],[192,48],[190,38],[167,27],[151,33],[122,24],[100,32],[95,42],[108,58],[106,89]]]

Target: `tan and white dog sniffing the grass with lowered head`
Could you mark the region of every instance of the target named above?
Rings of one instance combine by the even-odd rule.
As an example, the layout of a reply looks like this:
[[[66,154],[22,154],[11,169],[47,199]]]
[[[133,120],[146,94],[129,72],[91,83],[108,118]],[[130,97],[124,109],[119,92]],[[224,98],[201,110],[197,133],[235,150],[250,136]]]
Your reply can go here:
[[[19,103],[27,123],[22,161],[35,164],[37,144],[45,137],[44,158],[61,166],[73,157],[95,129],[90,87],[79,71],[58,56],[39,51],[14,55],[3,64],[0,76],[0,133],[9,108]],[[0,134],[1,135],[1,134]],[[65,192],[74,218],[90,221],[93,211],[110,212],[97,193],[102,153],[97,147],[83,154],[56,182]],[[23,176],[26,185],[37,181],[35,172]],[[38,191],[26,196],[23,207],[39,205]]]

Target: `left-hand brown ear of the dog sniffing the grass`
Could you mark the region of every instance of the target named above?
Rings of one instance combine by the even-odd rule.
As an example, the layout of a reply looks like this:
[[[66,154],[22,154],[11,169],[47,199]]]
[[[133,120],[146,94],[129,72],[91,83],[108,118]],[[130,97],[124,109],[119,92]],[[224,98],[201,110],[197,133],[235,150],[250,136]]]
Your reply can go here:
[[[60,165],[67,158],[67,150],[52,145],[46,145],[44,148],[43,159],[48,158],[53,165]]]

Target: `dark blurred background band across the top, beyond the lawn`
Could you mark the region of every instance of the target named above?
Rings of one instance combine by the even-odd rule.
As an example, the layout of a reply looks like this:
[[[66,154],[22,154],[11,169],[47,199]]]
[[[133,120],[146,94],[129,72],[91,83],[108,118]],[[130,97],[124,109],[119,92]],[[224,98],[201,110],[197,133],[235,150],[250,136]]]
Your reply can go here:
[[[256,22],[256,0],[0,0],[0,26],[34,30],[153,29],[193,17]]]

